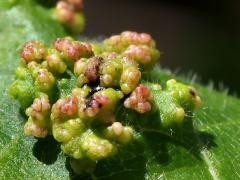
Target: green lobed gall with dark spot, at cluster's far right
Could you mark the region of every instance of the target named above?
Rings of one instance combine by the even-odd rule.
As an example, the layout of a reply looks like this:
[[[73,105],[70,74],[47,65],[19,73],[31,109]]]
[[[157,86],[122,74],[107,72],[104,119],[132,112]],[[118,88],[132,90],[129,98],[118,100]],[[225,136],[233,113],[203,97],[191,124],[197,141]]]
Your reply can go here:
[[[197,91],[175,79],[167,81],[165,89],[155,89],[153,92],[157,92],[158,101],[155,103],[159,107],[163,127],[181,126],[187,113],[201,105]]]

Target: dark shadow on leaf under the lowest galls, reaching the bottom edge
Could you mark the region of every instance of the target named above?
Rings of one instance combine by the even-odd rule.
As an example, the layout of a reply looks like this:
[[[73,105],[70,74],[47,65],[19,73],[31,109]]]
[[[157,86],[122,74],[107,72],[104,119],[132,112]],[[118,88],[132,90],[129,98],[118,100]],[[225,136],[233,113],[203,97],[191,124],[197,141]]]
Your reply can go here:
[[[69,159],[66,167],[72,180],[92,179],[91,175],[75,174],[70,167]],[[92,176],[104,180],[144,180],[145,173],[144,144],[136,140],[131,145],[119,148],[119,152],[115,156],[99,161]]]

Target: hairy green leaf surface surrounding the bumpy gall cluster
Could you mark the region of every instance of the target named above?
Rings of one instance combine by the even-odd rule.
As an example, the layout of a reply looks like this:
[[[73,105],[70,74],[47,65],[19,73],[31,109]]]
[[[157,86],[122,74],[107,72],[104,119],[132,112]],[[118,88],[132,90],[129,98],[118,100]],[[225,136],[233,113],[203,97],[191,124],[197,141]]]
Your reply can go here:
[[[0,177],[1,179],[71,179],[69,159],[53,138],[43,140],[23,134],[24,113],[8,96],[19,62],[19,50],[29,40],[50,43],[67,35],[51,20],[49,10],[31,0],[0,4]],[[155,68],[151,82],[165,84],[175,77]],[[117,157],[99,162],[96,171],[82,179],[238,179],[240,178],[240,100],[208,87],[194,84],[203,101],[182,134],[159,129],[158,111],[129,116],[138,128],[136,141]],[[65,87],[66,84],[62,84]],[[158,102],[158,91],[154,91]]]

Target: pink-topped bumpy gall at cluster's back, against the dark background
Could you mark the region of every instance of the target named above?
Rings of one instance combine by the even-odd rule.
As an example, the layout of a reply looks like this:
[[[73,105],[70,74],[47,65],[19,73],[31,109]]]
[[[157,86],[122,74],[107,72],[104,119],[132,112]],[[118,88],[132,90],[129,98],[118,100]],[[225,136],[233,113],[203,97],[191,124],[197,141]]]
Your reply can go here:
[[[149,34],[122,32],[104,40],[104,52],[114,52],[135,61],[144,71],[150,70],[160,57],[155,42]]]

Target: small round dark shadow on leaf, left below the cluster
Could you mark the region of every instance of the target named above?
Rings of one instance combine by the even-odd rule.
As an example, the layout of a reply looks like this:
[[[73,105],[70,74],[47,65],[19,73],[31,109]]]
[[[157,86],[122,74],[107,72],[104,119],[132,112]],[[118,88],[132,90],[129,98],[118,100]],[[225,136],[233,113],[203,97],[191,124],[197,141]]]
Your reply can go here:
[[[47,136],[44,139],[38,139],[33,147],[33,155],[44,164],[53,164],[58,157],[61,149],[59,143],[53,136]]]

